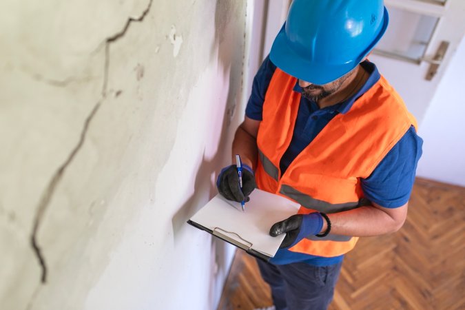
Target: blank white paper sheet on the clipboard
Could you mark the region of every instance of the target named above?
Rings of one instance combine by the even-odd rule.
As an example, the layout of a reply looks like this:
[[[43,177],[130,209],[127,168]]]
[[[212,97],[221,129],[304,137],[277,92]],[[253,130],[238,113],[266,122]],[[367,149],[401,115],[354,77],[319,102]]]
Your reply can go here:
[[[274,223],[296,214],[298,208],[298,203],[287,198],[255,189],[250,195],[250,201],[245,204],[245,212],[242,212],[240,203],[218,194],[192,216],[191,220],[273,257],[285,234],[271,237],[269,229]]]

